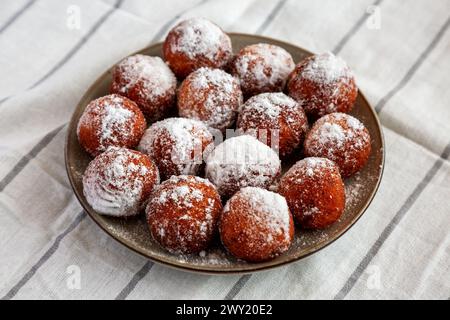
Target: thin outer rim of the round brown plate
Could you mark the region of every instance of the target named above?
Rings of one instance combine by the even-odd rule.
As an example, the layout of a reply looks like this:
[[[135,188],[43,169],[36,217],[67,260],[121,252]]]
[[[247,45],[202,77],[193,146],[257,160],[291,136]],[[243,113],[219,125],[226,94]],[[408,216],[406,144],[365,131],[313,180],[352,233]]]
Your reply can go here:
[[[295,44],[292,44],[292,43],[289,43],[289,42],[286,42],[286,41],[283,41],[283,40],[271,38],[271,37],[266,37],[266,36],[261,36],[261,35],[256,35],[256,34],[239,33],[239,32],[227,32],[227,34],[229,36],[231,36],[231,37],[233,37],[233,36],[234,37],[251,37],[253,39],[259,39],[260,42],[266,42],[268,40],[272,41],[272,42],[278,42],[280,44],[284,44],[284,45],[287,45],[287,46],[298,48],[299,50],[302,50],[302,51],[304,51],[304,52],[306,52],[306,53],[308,53],[310,55],[313,54],[311,51],[306,50],[306,49],[304,49],[304,48],[302,48],[302,47],[300,47],[298,45],[295,45]],[[146,47],[144,47],[144,48],[142,48],[140,50],[137,50],[135,52],[132,52],[132,53],[128,54],[127,56],[138,54],[138,53],[141,53],[142,51],[147,51],[149,48],[154,47],[154,46],[161,46],[162,43],[163,42],[150,43]],[[379,171],[379,175],[377,177],[375,188],[370,193],[368,201],[365,203],[363,208],[358,212],[358,214],[355,217],[353,217],[350,220],[350,222],[342,230],[340,230],[333,239],[329,240],[327,243],[321,245],[320,247],[311,248],[308,252],[302,254],[301,256],[292,257],[290,259],[285,259],[285,260],[282,260],[282,261],[280,261],[278,263],[265,265],[265,266],[258,266],[257,264],[254,264],[254,268],[252,268],[251,270],[247,270],[247,269],[239,270],[239,269],[236,269],[236,270],[222,270],[222,271],[220,271],[220,270],[213,270],[213,269],[204,269],[201,266],[192,266],[192,265],[189,265],[189,264],[181,264],[181,263],[180,264],[174,264],[172,262],[165,261],[165,260],[160,259],[160,258],[155,257],[155,256],[149,256],[149,255],[145,254],[144,252],[141,252],[138,249],[134,248],[133,246],[129,245],[126,241],[122,240],[121,238],[114,236],[105,226],[102,225],[100,220],[94,214],[92,214],[90,212],[90,209],[85,206],[84,201],[82,200],[82,196],[83,195],[80,192],[78,192],[78,190],[75,188],[75,181],[74,181],[73,173],[71,171],[70,164],[69,164],[68,145],[69,145],[70,133],[74,129],[74,127],[76,127],[76,126],[74,126],[75,113],[76,113],[75,111],[78,110],[78,107],[80,106],[80,103],[82,101],[86,100],[87,96],[90,95],[90,92],[92,90],[94,90],[94,88],[96,88],[99,85],[99,83],[101,82],[103,77],[105,77],[111,71],[111,69],[114,67],[114,65],[110,66],[108,69],[106,69],[106,71],[102,72],[100,74],[100,76],[98,76],[98,78],[88,87],[86,92],[82,95],[82,97],[80,98],[80,100],[76,104],[76,107],[73,109],[73,113],[72,113],[72,115],[70,117],[67,129],[66,129],[66,133],[65,133],[66,136],[65,136],[65,139],[64,139],[64,163],[65,163],[65,168],[66,168],[66,174],[67,174],[67,176],[69,178],[70,186],[71,186],[71,188],[72,188],[72,190],[73,190],[73,192],[74,192],[78,202],[82,206],[83,211],[109,237],[111,237],[112,239],[114,239],[115,241],[120,243],[121,245],[125,246],[129,250],[131,250],[131,251],[139,254],[140,256],[146,258],[147,260],[151,260],[152,262],[159,263],[159,264],[162,264],[164,266],[167,266],[167,267],[170,267],[170,268],[173,268],[173,269],[176,269],[176,270],[182,270],[182,271],[192,272],[192,273],[195,273],[195,274],[205,274],[205,275],[238,275],[238,274],[243,275],[243,274],[252,274],[252,273],[256,273],[256,272],[268,271],[268,270],[272,270],[272,269],[275,269],[275,268],[283,267],[283,266],[286,266],[288,264],[291,264],[291,263],[294,263],[294,262],[297,262],[299,260],[307,258],[307,257],[311,256],[312,254],[317,253],[317,252],[325,249],[326,247],[328,247],[329,245],[331,245],[335,241],[337,241],[339,238],[341,238],[364,215],[364,213],[367,211],[367,209],[369,208],[369,206],[372,203],[373,199],[375,198],[375,195],[378,192],[379,186],[381,184],[381,180],[383,179],[384,167],[385,167],[385,158],[386,158],[386,145],[385,145],[385,139],[384,139],[384,132],[383,132],[383,128],[382,128],[380,119],[379,119],[378,114],[376,113],[375,109],[368,102],[368,100],[366,99],[365,95],[361,92],[361,90],[358,90],[358,95],[369,106],[369,110],[372,113],[373,118],[375,119],[375,124],[376,124],[376,127],[377,127],[379,135],[380,135],[380,140],[381,140],[381,148],[380,148],[381,164],[380,164],[380,171]],[[218,265],[218,268],[219,268],[219,266],[220,265]]]

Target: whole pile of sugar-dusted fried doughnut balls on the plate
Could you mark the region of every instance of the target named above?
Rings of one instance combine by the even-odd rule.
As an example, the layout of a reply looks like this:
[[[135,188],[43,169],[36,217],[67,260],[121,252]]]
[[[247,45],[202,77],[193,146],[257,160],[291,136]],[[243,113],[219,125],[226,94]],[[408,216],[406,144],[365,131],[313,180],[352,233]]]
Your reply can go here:
[[[176,254],[204,254],[220,235],[248,262],[288,250],[294,221],[322,229],[339,219],[342,179],[371,151],[368,130],[347,114],[357,87],[341,58],[295,65],[266,43],[233,54],[229,36],[202,18],[170,30],[163,56],[117,64],[111,94],[79,120],[79,142],[95,157],[83,175],[95,211],[145,211],[153,239]],[[218,143],[227,129],[237,133]],[[303,159],[282,175],[293,156]]]

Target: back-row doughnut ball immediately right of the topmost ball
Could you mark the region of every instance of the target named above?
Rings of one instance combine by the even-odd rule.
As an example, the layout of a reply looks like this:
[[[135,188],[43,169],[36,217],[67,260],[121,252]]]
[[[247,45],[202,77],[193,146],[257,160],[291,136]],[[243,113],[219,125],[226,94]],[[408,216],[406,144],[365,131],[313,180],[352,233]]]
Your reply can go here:
[[[294,60],[286,50],[267,43],[244,47],[230,63],[231,73],[240,80],[245,98],[283,91],[294,67]]]

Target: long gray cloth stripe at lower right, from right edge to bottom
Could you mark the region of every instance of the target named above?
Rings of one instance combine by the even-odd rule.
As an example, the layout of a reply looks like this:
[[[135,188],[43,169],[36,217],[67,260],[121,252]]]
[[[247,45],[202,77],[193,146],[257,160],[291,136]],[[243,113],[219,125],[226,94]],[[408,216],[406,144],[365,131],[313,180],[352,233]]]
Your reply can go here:
[[[439,169],[442,167],[444,160],[448,159],[449,156],[450,156],[450,143],[445,147],[440,157],[436,159],[433,166],[428,170],[428,172],[425,174],[425,176],[422,178],[419,184],[417,184],[413,192],[408,196],[408,198],[405,200],[405,202],[397,211],[397,213],[389,222],[389,224],[384,228],[383,232],[380,234],[378,239],[366,253],[364,258],[361,260],[359,265],[351,274],[350,278],[348,278],[348,280],[345,282],[341,290],[339,290],[339,292],[336,294],[334,299],[344,299],[347,296],[347,294],[352,290],[358,279],[364,273],[364,270],[369,266],[370,262],[377,255],[381,246],[392,234],[395,227],[400,223],[400,221],[406,215],[408,210],[413,206],[413,204],[416,202],[416,200],[419,198],[419,196],[425,190],[428,184],[433,180],[433,178],[438,173]]]

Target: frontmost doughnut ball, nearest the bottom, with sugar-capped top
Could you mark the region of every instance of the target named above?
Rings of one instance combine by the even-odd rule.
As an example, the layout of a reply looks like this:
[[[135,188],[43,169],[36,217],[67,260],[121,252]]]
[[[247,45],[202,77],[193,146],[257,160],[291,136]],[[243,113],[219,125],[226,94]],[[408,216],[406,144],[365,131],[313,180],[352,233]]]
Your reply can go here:
[[[243,188],[228,200],[219,230],[225,248],[250,262],[275,258],[289,249],[294,238],[286,199],[254,187]]]

